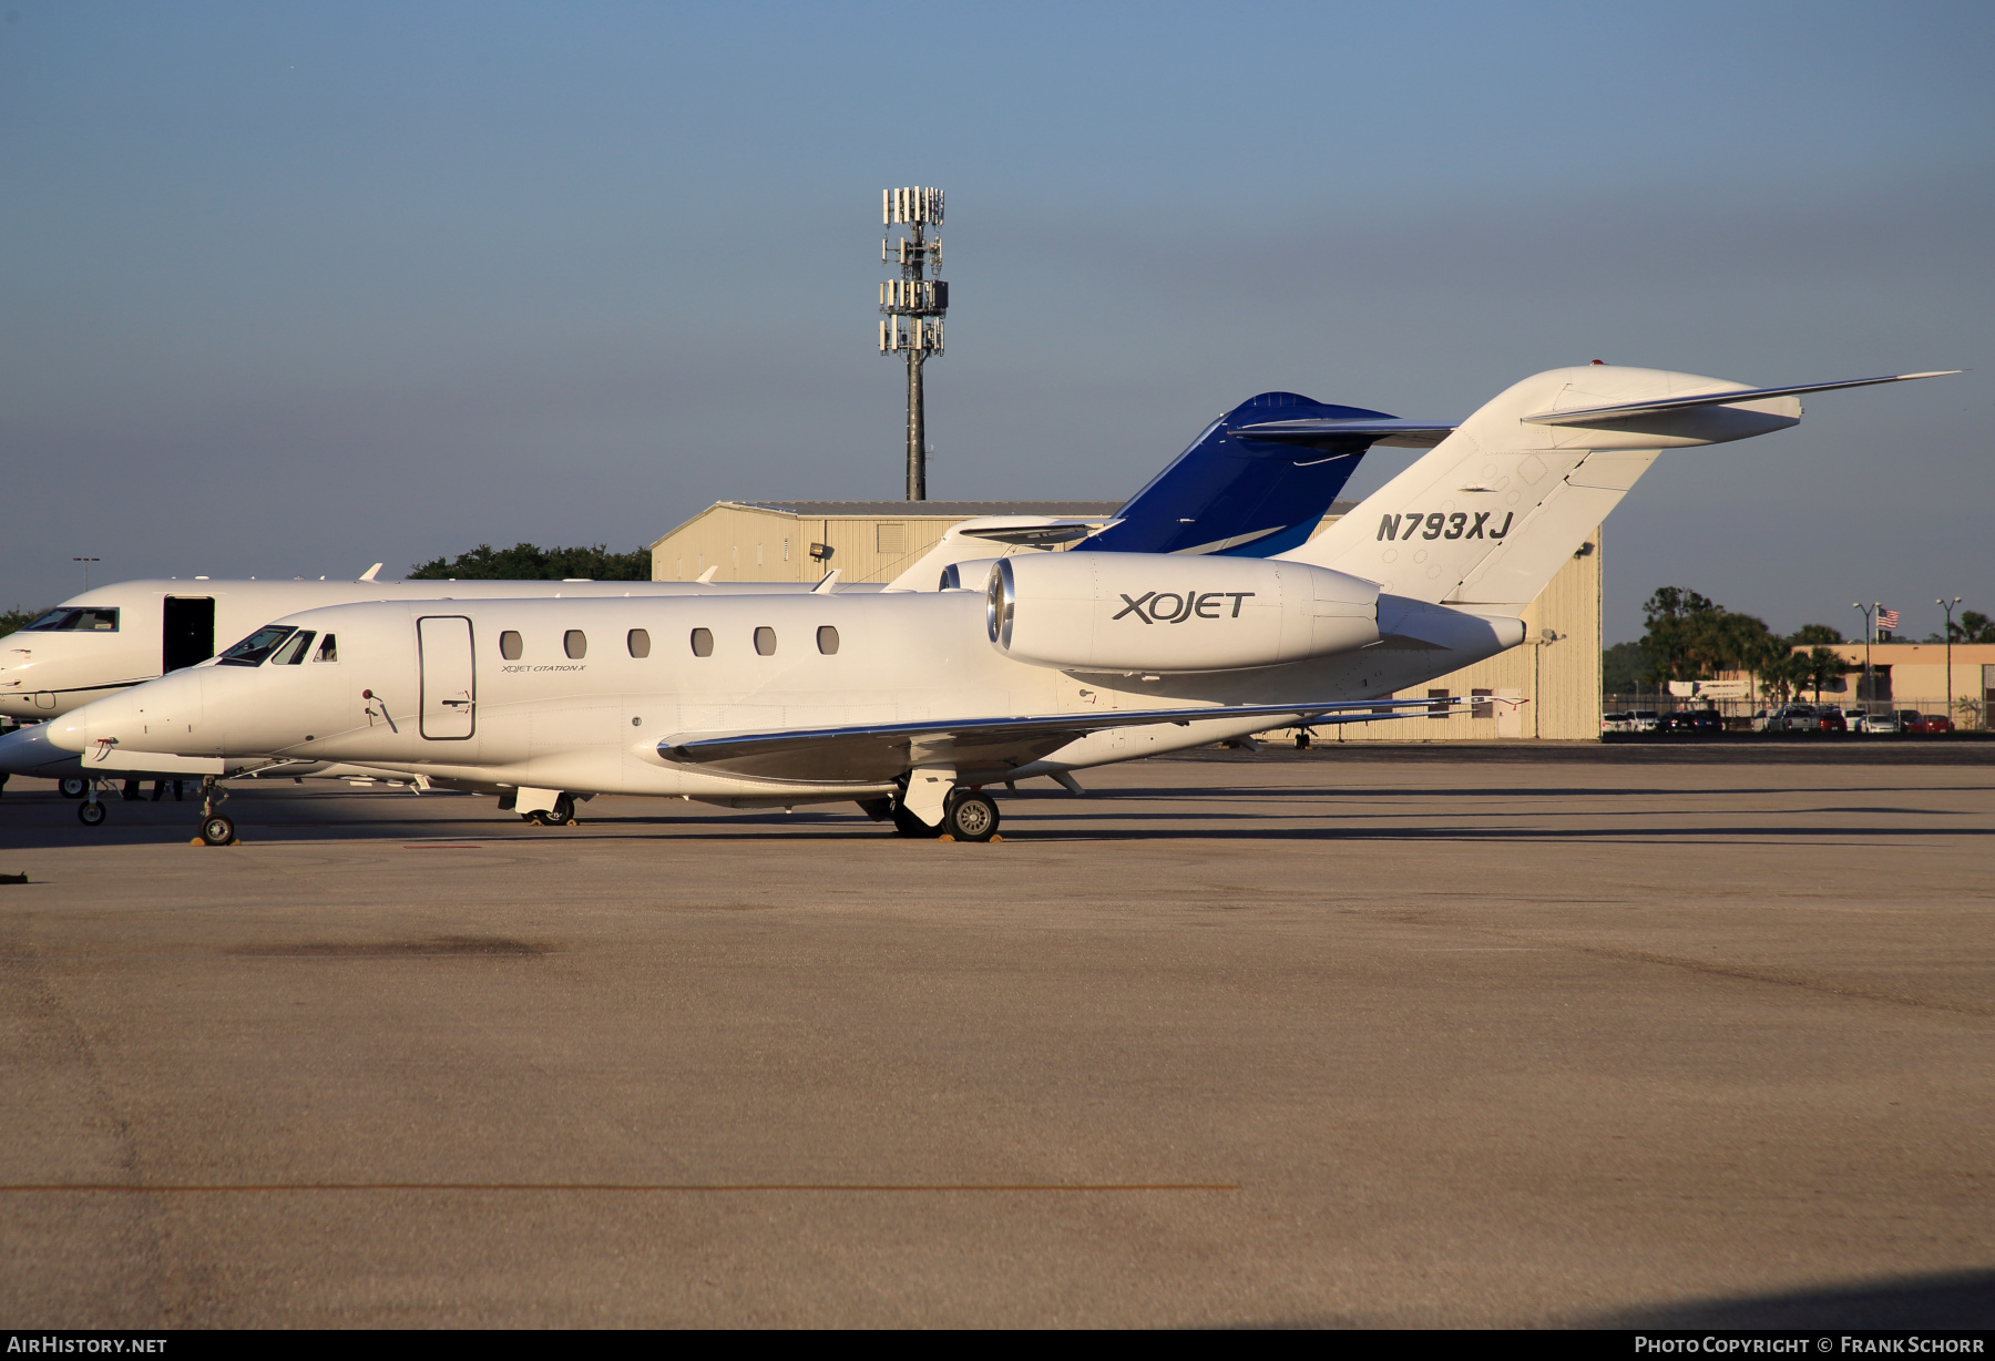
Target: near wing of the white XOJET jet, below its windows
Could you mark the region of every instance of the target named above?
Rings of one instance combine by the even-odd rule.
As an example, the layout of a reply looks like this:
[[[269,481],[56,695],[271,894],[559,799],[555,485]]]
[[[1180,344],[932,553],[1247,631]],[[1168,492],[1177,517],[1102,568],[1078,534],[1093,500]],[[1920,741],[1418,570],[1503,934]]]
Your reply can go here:
[[[934,760],[964,778],[1003,778],[1005,770],[1053,754],[1067,742],[1107,728],[1155,722],[1225,722],[1291,718],[1309,726],[1369,722],[1432,712],[1440,698],[1381,698],[1337,704],[1223,704],[1205,708],[1121,708],[1085,714],[1021,718],[934,718],[834,728],[774,728],[768,732],[686,732],[658,742],[658,754],[688,766],[708,766],[760,780],[882,784],[910,766]],[[1470,696],[1452,696],[1466,704]],[[1486,700],[1484,700],[1486,702]]]

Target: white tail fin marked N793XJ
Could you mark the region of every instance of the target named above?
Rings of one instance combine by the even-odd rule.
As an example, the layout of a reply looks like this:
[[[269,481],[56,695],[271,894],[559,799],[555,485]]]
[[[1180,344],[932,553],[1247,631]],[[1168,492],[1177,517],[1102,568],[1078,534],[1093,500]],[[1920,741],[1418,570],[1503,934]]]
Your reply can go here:
[[[1538,373],[1281,557],[1416,601],[1516,615],[1660,449],[1797,425],[1792,391],[1616,365]],[[1722,393],[1740,397],[1712,399]]]

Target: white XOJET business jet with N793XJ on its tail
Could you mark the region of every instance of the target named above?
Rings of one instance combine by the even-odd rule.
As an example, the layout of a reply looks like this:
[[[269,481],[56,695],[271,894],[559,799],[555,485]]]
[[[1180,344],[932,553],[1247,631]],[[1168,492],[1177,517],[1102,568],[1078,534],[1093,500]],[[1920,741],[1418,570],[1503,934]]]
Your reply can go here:
[[[986,786],[1428,700],[1395,690],[1524,639],[1516,619],[1658,451],[1799,423],[1801,387],[1590,365],[1494,397],[1273,559],[1057,553],[984,589],[361,603],[50,722],[86,768],[259,760],[423,770],[521,812],[620,792],[858,800],[988,840]],[[201,840],[233,824],[209,804]]]

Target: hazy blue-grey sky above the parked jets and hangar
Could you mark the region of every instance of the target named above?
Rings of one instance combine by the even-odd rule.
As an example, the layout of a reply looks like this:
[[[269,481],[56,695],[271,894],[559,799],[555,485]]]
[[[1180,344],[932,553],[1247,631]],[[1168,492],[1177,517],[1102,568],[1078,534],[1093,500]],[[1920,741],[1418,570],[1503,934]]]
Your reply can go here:
[[[1273,387],[1971,367],[1666,455],[1608,639],[1995,613],[1995,6],[0,6],[4,605],[894,497],[878,194],[940,184],[936,497]]]

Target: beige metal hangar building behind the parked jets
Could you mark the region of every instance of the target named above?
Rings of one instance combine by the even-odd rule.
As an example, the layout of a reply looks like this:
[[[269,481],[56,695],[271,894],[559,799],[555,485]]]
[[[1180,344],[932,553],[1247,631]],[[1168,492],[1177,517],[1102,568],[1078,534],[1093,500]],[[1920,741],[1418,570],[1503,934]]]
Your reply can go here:
[[[1355,503],[1339,501],[1323,525]],[[718,501],[650,545],[652,581],[888,583],[980,515],[1111,517],[1119,501]],[[1319,525],[1319,533],[1323,531]],[[1524,611],[1524,645],[1395,698],[1488,696],[1468,716],[1347,722],[1319,742],[1600,740],[1600,531]],[[1504,704],[1498,698],[1522,700]]]

